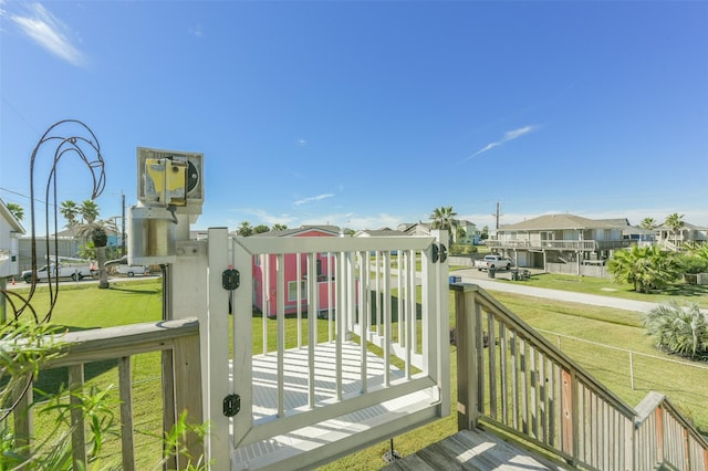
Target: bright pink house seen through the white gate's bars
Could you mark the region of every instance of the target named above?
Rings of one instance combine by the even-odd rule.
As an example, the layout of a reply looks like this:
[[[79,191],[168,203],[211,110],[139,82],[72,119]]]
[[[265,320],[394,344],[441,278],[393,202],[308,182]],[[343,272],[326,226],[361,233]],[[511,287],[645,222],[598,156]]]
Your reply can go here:
[[[270,231],[251,237],[339,237],[340,229],[334,226],[303,226],[299,229]],[[278,279],[275,270],[277,255],[253,257],[253,306],[269,317],[275,317],[278,312]],[[308,310],[308,255],[300,254],[300,271],[298,271],[298,254],[288,253],[283,260],[285,274],[285,314],[298,312],[298,300],[301,310]],[[329,310],[330,300],[335,303],[334,260],[330,261],[326,253],[317,253],[314,275],[317,278],[317,311]],[[300,276],[299,276],[300,275]],[[300,287],[300,296],[298,289]],[[334,307],[334,306],[333,306]]]

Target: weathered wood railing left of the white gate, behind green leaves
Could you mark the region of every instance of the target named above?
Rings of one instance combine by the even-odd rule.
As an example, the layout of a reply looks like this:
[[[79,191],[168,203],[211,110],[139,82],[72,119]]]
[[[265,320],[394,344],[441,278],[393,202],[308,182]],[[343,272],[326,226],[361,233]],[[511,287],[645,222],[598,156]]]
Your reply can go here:
[[[133,324],[91,331],[70,332],[56,342],[65,353],[42,365],[42,370],[67,367],[70,390],[84,386],[84,367],[88,363],[106,359],[118,360],[118,391],[121,399],[121,454],[122,469],[135,469],[135,441],[133,428],[133,386],[131,357],[149,352],[163,352],[163,405],[166,428],[174,423],[183,410],[188,411],[188,421],[201,425],[201,370],[199,360],[199,324],[195,318],[183,318],[158,323]],[[40,375],[42,373],[40,371]],[[18,443],[32,444],[34,437],[31,414],[32,388],[19,399],[13,412]],[[25,393],[25,394],[24,394]],[[71,400],[77,400],[72,397]],[[73,462],[86,463],[86,436],[82,410],[72,409]],[[201,444],[195,437],[186,443],[192,457],[202,454]],[[155,457],[156,462],[162,459]],[[185,463],[177,461],[173,468]]]

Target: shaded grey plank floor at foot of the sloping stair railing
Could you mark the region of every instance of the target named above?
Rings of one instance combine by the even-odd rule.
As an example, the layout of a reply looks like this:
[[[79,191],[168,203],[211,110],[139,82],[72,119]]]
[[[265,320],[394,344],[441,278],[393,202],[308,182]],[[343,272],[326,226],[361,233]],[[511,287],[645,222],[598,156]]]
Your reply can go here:
[[[464,430],[404,457],[386,471],[564,470],[482,429]]]

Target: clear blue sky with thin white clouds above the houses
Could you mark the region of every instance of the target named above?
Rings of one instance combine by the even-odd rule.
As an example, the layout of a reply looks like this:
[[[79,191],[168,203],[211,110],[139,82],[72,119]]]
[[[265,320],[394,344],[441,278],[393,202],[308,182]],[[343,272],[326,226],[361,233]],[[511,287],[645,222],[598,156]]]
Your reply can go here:
[[[6,202],[29,208],[31,151],[73,118],[101,144],[104,218],[121,195],[136,202],[142,146],[205,154],[196,228],[393,228],[440,206],[493,228],[497,201],[501,223],[678,212],[708,226],[705,1],[0,9]],[[90,196],[87,170],[62,160],[59,201]]]

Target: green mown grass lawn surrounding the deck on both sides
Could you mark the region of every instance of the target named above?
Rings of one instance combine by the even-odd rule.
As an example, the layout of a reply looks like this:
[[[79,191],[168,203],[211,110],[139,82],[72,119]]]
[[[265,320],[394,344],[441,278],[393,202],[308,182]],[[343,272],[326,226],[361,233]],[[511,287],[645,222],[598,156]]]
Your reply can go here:
[[[542,283],[539,281],[539,283]],[[572,282],[555,281],[555,284]],[[604,283],[612,283],[605,281]],[[575,282],[575,284],[583,283]],[[541,285],[541,284],[538,284]],[[587,283],[591,286],[591,283]],[[558,286],[553,286],[558,287]],[[602,284],[587,289],[591,293],[605,294]],[[595,291],[592,291],[595,290]],[[22,292],[23,290],[19,290]],[[27,290],[24,290],[27,292]],[[34,306],[42,315],[42,307],[48,305],[45,299],[46,286],[40,285]],[[552,300],[529,299],[500,292],[492,294],[507,305],[512,312],[528,322],[534,328],[550,331],[572,337],[612,345],[618,348],[631,349],[637,353],[653,355],[666,359],[676,359],[654,349],[652,341],[644,335],[639,315],[626,311],[593,307],[574,303],[561,303]],[[636,294],[636,293],[634,293]],[[110,290],[98,290],[95,284],[65,283],[61,285],[59,303],[52,317],[53,323],[70,329],[108,327],[132,323],[158,321],[162,317],[162,281],[139,280],[118,282]],[[654,301],[653,296],[648,296]],[[644,297],[637,297],[643,301]],[[450,296],[451,324],[454,325],[454,303]],[[269,343],[274,342],[271,334],[274,333],[275,321],[267,320]],[[262,349],[263,320],[253,316],[254,352]],[[296,320],[287,320],[287,338],[292,345],[296,338]],[[306,336],[306,320],[303,320],[303,335]],[[326,322],[317,321],[319,338],[326,338]],[[553,334],[544,334],[554,344],[558,337]],[[708,395],[704,385],[708,384],[708,370],[693,366],[683,366],[678,363],[669,363],[653,357],[634,357],[635,388],[631,388],[628,354],[623,350],[602,349],[592,344],[572,341],[563,337],[561,345],[572,358],[583,368],[597,377],[603,384],[627,401],[632,406],[649,391],[657,390],[666,394],[673,404],[684,410],[696,426],[708,431]],[[452,397],[456,397],[456,349],[451,348],[451,386]],[[706,365],[704,365],[706,366]],[[112,362],[92,365],[87,368],[86,379],[107,387],[117,385],[116,366]],[[134,381],[137,385],[134,391],[136,410],[136,427],[144,432],[137,437],[140,461],[138,469],[154,469],[156,458],[159,456],[159,440],[149,433],[159,433],[162,417],[158,411],[162,404],[156,404],[159,397],[159,355],[149,354],[136,357],[133,366]],[[43,373],[38,384],[44,390],[59,390],[59,385],[65,381],[65,373]],[[117,398],[117,393],[113,396]],[[159,399],[158,399],[159,402]],[[452,399],[452,404],[456,404]],[[116,416],[117,417],[117,416]],[[46,430],[46,418],[38,418],[38,432]],[[396,451],[406,456],[425,446],[438,441],[456,432],[457,418],[455,410],[449,417],[435,421],[421,429],[414,430],[400,437],[394,438]],[[108,444],[106,465],[115,462],[116,447]],[[384,465],[383,454],[389,450],[389,443],[383,442],[358,453],[345,457],[334,463],[323,467],[324,470],[375,470]]]

